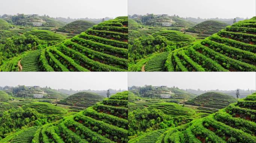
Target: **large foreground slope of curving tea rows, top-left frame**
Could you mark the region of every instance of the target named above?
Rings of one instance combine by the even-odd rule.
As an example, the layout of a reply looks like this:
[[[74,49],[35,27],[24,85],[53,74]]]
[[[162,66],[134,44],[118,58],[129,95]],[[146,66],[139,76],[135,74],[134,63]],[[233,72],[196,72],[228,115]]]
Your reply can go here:
[[[86,32],[42,51],[42,71],[126,71],[127,17],[93,26]]]

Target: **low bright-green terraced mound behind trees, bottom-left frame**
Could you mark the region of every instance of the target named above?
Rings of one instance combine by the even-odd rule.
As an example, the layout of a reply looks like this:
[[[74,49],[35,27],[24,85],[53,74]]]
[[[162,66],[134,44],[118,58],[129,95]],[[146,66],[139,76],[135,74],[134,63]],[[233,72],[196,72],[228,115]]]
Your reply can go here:
[[[64,115],[67,114],[67,110],[64,108],[55,106],[54,104],[50,104],[47,102],[31,102],[29,104],[25,104],[22,106],[23,109],[33,108],[36,109],[37,112],[41,114],[55,114],[55,115]]]

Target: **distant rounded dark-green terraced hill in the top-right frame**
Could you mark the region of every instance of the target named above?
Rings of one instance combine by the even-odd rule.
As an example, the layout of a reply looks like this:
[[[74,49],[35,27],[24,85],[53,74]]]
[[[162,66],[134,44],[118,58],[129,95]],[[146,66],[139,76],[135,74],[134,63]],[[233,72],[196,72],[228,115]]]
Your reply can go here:
[[[219,32],[221,29],[225,29],[226,26],[228,26],[228,24],[224,22],[208,20],[186,29],[186,32],[213,35],[214,33]]]

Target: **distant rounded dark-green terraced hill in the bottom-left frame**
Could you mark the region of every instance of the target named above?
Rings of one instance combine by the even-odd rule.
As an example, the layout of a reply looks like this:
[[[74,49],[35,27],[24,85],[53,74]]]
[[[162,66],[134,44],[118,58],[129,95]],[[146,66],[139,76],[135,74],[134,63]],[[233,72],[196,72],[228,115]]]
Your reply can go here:
[[[103,101],[103,98],[104,96],[100,96],[96,93],[79,92],[58,101],[58,104],[87,108],[94,105],[96,102]]]

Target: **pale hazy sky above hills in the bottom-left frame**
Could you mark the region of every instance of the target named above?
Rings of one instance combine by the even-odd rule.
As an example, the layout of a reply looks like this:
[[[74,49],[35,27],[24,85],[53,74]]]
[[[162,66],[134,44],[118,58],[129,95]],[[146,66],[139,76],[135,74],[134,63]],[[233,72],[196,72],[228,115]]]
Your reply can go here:
[[[53,89],[125,89],[127,72],[1,72],[0,86],[41,86]]]

